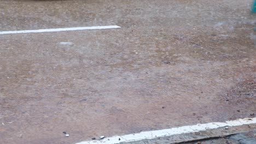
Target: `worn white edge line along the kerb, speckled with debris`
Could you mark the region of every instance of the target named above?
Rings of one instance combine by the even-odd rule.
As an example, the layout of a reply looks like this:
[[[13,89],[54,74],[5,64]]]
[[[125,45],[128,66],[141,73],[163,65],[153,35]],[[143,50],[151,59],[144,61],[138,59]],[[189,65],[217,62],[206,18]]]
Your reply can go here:
[[[76,144],[115,144],[120,142],[131,142],[131,141],[139,141],[144,139],[155,139],[158,137],[164,136],[171,136],[171,135],[178,135],[178,134],[185,134],[185,133],[194,133],[203,130],[210,130],[216,129],[220,127],[235,127],[243,124],[253,124],[256,123],[255,118],[244,118],[244,119],[237,119],[235,121],[227,121],[225,123],[206,123],[206,124],[196,124],[196,125],[189,125],[184,127],[178,128],[171,128],[171,129],[163,129],[163,130],[154,130],[154,131],[144,131],[137,134],[129,134],[123,136],[113,136],[113,137],[106,137],[100,141],[83,141]]]

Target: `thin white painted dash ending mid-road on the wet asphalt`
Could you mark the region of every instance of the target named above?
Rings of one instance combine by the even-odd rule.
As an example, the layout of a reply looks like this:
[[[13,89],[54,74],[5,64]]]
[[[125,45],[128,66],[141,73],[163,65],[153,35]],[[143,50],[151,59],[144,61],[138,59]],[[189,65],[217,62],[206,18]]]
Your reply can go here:
[[[51,28],[51,29],[36,29],[36,30],[24,30],[24,31],[3,31],[3,32],[0,32],[0,34],[44,33],[44,32],[78,31],[78,30],[109,29],[109,28],[121,28],[121,27],[119,27],[119,26],[96,26],[96,27]]]

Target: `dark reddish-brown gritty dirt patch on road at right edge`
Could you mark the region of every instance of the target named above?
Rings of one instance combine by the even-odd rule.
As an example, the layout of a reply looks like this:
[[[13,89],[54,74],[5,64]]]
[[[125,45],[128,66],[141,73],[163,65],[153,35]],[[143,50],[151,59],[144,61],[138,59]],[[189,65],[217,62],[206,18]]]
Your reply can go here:
[[[219,99],[219,117],[234,120],[242,117],[255,117],[256,82],[253,79],[238,82]]]

